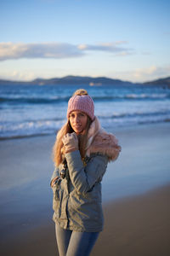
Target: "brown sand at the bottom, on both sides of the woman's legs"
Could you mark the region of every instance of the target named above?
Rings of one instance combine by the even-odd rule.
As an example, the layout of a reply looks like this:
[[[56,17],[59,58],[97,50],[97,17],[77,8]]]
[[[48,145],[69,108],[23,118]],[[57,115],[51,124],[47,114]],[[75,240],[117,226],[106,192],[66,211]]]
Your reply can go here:
[[[144,195],[118,199],[103,206],[104,230],[92,256],[167,256],[170,253],[170,183]],[[10,244],[10,247],[8,247]],[[24,236],[6,241],[4,255],[59,255],[54,222],[48,221]]]

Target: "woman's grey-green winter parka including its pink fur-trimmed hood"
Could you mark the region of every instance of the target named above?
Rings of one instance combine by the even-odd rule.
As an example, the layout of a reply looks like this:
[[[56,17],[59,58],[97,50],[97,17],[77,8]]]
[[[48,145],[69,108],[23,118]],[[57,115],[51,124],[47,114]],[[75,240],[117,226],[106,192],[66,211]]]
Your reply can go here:
[[[121,147],[116,137],[101,130],[97,118],[88,131],[85,160],[79,150],[65,154],[65,178],[54,184],[54,222],[68,230],[99,232],[104,218],[101,206],[101,181],[108,161],[116,160]],[[55,168],[59,176],[63,165]]]

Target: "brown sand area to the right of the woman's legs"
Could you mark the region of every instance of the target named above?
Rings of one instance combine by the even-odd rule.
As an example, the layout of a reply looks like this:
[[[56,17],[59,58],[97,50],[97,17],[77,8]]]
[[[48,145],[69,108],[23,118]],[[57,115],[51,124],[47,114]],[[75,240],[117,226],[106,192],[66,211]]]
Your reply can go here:
[[[170,186],[105,207],[105,230],[92,255],[170,255]]]

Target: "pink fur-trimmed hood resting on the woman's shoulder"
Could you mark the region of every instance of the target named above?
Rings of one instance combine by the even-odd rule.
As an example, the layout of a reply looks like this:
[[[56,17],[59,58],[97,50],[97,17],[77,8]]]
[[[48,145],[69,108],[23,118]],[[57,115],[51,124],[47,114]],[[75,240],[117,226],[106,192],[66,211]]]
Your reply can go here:
[[[95,117],[88,130],[86,150],[87,156],[93,153],[106,154],[109,161],[114,161],[117,159],[121,147],[118,145],[116,137],[102,129],[99,125],[99,119]]]

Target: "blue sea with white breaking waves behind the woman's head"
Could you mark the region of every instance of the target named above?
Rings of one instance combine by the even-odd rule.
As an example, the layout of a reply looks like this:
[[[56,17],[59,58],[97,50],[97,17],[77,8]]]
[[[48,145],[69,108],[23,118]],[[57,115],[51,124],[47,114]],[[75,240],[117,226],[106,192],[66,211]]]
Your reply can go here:
[[[170,121],[170,89],[153,85],[0,85],[0,139],[57,132],[78,88],[94,99],[105,129]]]

